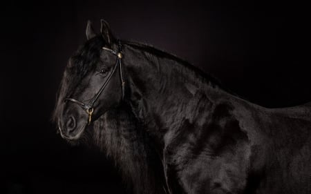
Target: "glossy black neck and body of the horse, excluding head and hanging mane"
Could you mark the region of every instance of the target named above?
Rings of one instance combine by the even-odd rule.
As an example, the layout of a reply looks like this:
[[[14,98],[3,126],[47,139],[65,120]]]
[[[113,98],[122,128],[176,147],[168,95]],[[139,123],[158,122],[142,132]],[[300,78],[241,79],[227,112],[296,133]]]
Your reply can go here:
[[[310,191],[310,105],[263,108],[173,58],[128,46],[124,53],[139,56],[124,70],[131,106],[162,145],[171,193]]]

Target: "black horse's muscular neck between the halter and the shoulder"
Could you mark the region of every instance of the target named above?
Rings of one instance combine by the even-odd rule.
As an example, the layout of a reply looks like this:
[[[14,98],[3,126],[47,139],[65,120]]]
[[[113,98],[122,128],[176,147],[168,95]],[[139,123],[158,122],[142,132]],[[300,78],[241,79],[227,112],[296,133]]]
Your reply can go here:
[[[129,104],[160,146],[164,146],[164,135],[178,128],[182,119],[193,119],[194,108],[210,104],[206,93],[220,91],[202,73],[164,52],[154,55],[129,44],[124,46],[124,55],[130,56],[124,57]]]

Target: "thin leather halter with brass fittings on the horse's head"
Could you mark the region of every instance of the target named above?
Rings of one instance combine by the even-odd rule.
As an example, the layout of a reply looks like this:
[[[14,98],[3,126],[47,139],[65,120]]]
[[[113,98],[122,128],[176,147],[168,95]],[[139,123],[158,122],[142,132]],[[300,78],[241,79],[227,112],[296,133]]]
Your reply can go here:
[[[79,101],[77,99],[73,99],[73,98],[66,98],[66,101],[71,101],[75,104],[78,104],[81,108],[83,108],[84,110],[86,110],[86,113],[88,113],[88,124],[91,123],[92,121],[92,115],[94,112],[94,104],[95,101],[97,101],[98,97],[100,97],[100,94],[102,93],[102,91],[104,91],[104,89],[106,88],[106,86],[108,85],[111,77],[113,76],[115,70],[117,69],[117,65],[119,65],[120,67],[120,79],[121,79],[121,83],[122,83],[122,99],[124,99],[124,79],[122,76],[122,64],[121,64],[121,59],[123,57],[122,55],[122,48],[121,48],[121,43],[119,40],[117,40],[117,52],[115,52],[114,50],[111,50],[110,48],[106,48],[106,47],[102,47],[103,50],[106,50],[108,52],[111,52],[111,54],[115,55],[117,57],[117,60],[115,62],[115,66],[113,67],[112,72],[109,74],[108,78],[106,79],[106,81],[104,82],[104,84],[102,85],[102,87],[100,88],[100,90],[95,94],[95,96],[91,99],[90,103],[86,104],[82,101]]]

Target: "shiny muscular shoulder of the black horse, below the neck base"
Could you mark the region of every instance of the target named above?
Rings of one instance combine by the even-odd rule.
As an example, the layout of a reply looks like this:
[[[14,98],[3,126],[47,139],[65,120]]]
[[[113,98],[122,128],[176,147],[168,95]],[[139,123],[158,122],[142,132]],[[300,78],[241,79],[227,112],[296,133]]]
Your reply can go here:
[[[251,150],[247,131],[229,101],[212,107],[196,119],[184,119],[164,150],[172,193],[241,193],[245,189]]]

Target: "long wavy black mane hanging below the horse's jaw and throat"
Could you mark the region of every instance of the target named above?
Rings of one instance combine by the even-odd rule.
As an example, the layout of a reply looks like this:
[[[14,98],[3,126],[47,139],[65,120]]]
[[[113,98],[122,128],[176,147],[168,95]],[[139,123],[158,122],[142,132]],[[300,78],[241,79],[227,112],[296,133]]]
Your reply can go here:
[[[133,193],[164,193],[160,156],[130,110],[109,110],[93,124],[95,146],[120,167]]]

